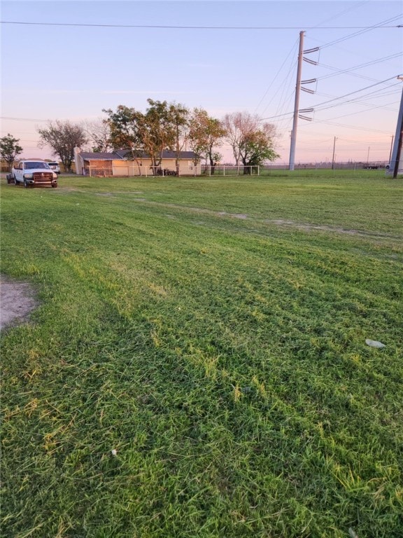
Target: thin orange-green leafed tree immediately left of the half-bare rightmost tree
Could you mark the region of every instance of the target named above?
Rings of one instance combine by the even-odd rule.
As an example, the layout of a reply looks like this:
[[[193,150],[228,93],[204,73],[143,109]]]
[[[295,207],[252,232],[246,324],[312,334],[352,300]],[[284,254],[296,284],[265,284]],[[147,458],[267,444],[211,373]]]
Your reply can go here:
[[[189,141],[190,147],[196,154],[195,165],[203,157],[209,160],[211,174],[214,174],[215,165],[221,158],[215,148],[221,146],[222,137],[225,134],[225,127],[220,120],[208,116],[204,109],[193,109],[189,125]]]

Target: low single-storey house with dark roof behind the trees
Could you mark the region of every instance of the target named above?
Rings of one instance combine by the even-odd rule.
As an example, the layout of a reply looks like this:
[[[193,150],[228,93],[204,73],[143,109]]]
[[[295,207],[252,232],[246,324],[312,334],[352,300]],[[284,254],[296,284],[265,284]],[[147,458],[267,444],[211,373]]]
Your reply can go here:
[[[146,153],[136,159],[130,158],[129,150],[117,150],[111,152],[90,153],[74,151],[76,174],[91,177],[132,177],[153,176],[155,171],[151,166],[151,159]],[[195,176],[201,174],[201,165],[195,165],[195,153],[193,151],[180,151],[178,154],[179,175]],[[176,151],[164,150],[160,169],[164,174],[176,172]],[[162,172],[161,172],[162,174]],[[173,174],[174,175],[174,174]]]

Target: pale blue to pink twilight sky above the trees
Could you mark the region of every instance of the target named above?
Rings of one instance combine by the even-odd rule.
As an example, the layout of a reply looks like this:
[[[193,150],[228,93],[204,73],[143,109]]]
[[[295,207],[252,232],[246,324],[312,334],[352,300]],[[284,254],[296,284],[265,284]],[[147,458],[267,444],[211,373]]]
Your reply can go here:
[[[390,158],[403,88],[400,0],[0,7],[0,137],[20,139],[22,158],[53,158],[38,148],[50,120],[106,118],[102,110],[119,104],[146,111],[151,98],[218,119],[257,114],[276,126],[276,162],[288,163],[301,35],[301,78],[313,82],[299,92],[295,163]],[[226,144],[220,152],[234,161]]]

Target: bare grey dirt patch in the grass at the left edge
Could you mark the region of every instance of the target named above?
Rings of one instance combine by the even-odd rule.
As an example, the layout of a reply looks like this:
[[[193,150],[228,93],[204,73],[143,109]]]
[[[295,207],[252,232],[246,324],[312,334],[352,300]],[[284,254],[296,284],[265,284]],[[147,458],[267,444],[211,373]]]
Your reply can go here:
[[[38,306],[34,289],[27,282],[0,277],[0,331],[27,322]]]

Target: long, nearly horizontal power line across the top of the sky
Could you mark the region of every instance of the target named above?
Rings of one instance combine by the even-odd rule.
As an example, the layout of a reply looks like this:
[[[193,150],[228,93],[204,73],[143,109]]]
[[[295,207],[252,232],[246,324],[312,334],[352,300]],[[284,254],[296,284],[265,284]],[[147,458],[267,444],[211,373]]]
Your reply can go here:
[[[395,18],[397,19],[397,17]],[[80,22],[27,22],[18,20],[1,20],[2,25],[29,25],[29,26],[66,26],[66,27],[92,27],[92,28],[155,28],[155,29],[184,29],[184,30],[297,30],[298,26],[175,26],[175,25],[94,25]],[[372,30],[383,28],[402,28],[403,25],[392,26],[307,26],[309,30],[337,30],[337,29],[360,29]],[[342,38],[339,41],[343,41]],[[333,43],[338,43],[334,41]],[[328,43],[325,46],[332,45]]]

